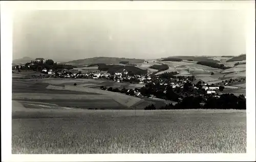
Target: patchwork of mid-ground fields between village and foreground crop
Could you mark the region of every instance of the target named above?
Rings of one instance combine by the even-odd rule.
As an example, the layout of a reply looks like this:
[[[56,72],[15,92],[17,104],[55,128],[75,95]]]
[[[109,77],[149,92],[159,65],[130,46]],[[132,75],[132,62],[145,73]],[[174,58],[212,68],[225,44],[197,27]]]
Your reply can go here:
[[[74,83],[77,86],[73,86]],[[156,104],[153,99],[100,90],[100,86],[140,88],[143,85],[116,83],[94,79],[18,79],[12,80],[12,99],[27,102],[56,104],[57,106],[79,107],[80,109],[124,109],[143,110],[149,104]],[[137,104],[143,102],[144,104]],[[25,104],[25,103],[23,103]],[[26,103],[25,106],[30,106]],[[32,104],[33,105],[33,104]],[[160,105],[159,105],[160,106]]]

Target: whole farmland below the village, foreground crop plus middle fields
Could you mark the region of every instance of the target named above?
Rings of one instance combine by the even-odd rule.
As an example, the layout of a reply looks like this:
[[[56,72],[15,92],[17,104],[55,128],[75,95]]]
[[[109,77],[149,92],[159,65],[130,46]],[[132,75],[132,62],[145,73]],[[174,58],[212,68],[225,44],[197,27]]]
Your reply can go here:
[[[120,83],[75,82],[13,78],[13,154],[246,152],[245,111],[144,111],[166,102],[89,88]]]

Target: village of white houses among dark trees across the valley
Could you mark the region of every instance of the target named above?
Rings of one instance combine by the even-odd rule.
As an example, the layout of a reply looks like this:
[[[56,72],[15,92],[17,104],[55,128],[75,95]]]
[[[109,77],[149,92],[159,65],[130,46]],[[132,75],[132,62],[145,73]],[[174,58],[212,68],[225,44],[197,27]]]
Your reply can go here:
[[[14,66],[13,70],[29,69],[37,63],[45,63],[46,61],[42,58],[36,58],[31,61],[30,64],[26,66]],[[38,69],[38,68],[37,68]],[[222,94],[221,91],[228,86],[229,83],[223,83],[222,85],[207,84],[201,79],[196,79],[195,76],[175,76],[170,73],[163,73],[160,75],[154,74],[133,74],[130,75],[129,71],[123,69],[122,72],[112,72],[108,71],[88,71],[84,72],[82,70],[75,70],[73,68],[69,69],[50,69],[43,68],[41,70],[40,76],[44,77],[55,77],[55,78],[85,78],[85,79],[100,79],[100,80],[110,80],[117,83],[130,83],[130,84],[140,84],[141,88],[135,89],[125,89],[123,87],[121,90],[117,88],[100,87],[101,90],[108,90],[117,93],[125,93],[127,95],[132,95],[136,97],[147,97],[147,98],[157,98],[170,100],[174,102],[181,102],[183,98],[188,96],[200,96],[204,100],[210,97],[219,98]],[[75,86],[76,84],[74,84]],[[171,90],[170,90],[171,89]],[[172,91],[172,97],[168,97],[167,91]],[[178,97],[173,97],[178,96]]]

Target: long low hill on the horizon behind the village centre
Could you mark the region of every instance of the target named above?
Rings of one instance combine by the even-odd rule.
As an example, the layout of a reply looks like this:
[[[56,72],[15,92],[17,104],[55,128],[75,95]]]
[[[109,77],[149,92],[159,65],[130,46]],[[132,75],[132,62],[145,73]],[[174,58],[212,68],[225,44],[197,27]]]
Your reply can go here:
[[[89,65],[89,64],[119,64],[121,61],[127,61],[129,63],[142,63],[142,59],[127,59],[127,58],[110,58],[110,57],[95,57],[88,59],[73,60],[62,64],[71,64],[71,65]]]

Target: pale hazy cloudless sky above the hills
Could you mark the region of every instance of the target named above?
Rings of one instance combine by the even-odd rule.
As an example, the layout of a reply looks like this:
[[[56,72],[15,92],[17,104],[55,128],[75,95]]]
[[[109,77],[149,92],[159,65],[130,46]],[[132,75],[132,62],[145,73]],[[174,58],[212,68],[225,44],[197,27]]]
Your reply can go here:
[[[37,10],[13,17],[13,59],[246,53],[242,10]]]

